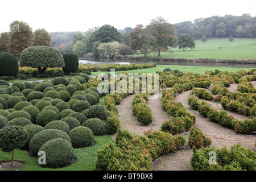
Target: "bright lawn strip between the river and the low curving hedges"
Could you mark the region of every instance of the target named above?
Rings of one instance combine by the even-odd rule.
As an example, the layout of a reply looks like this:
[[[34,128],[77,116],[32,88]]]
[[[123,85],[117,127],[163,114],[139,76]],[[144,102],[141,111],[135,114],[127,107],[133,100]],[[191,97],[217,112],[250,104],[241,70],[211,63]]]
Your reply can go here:
[[[246,71],[249,71],[252,68],[232,68],[232,67],[197,67],[197,66],[183,66],[183,65],[156,65],[155,68],[146,68],[146,69],[134,69],[129,71],[118,71],[115,72],[115,74],[119,72],[126,72],[126,73],[156,73],[156,71],[163,71],[164,68],[170,68],[171,70],[178,69],[179,71],[182,71],[184,73],[201,73],[204,74],[206,70],[209,71],[215,71],[215,69],[218,69],[220,71],[228,71],[228,72],[236,72],[240,71],[241,69],[244,69]],[[92,76],[99,75],[100,73],[107,73],[107,72],[92,72]]]

